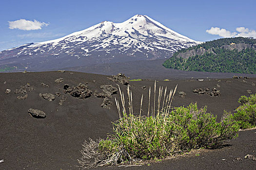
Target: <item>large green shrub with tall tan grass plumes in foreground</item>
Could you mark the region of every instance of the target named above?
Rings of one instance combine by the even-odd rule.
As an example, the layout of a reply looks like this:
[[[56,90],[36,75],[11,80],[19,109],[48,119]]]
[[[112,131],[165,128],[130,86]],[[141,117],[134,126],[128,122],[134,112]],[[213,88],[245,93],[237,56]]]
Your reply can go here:
[[[171,107],[177,86],[167,91],[159,87],[156,95],[154,86],[153,106],[150,105],[151,88],[147,116],[141,116],[143,95],[139,114],[133,112],[132,92],[127,88],[128,103],[119,88],[120,103],[117,99],[119,120],[113,123],[113,132],[107,139],[99,139],[83,145],[81,167],[98,167],[134,163],[138,160],[159,159],[201,147],[216,147],[226,139],[237,136],[238,125],[230,113],[225,113],[220,122],[206,113],[206,107],[197,108],[191,103],[188,107]],[[152,95],[152,96],[153,96]],[[126,108],[128,104],[128,108]],[[151,110],[151,111],[150,111]]]

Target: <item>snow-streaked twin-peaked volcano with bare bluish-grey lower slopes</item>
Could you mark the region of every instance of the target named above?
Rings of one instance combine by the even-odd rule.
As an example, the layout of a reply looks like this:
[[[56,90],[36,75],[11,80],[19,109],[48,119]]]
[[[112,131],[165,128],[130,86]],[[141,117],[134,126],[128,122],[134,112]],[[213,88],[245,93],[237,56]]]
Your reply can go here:
[[[122,23],[104,21],[62,38],[30,43],[0,52],[0,66],[50,70],[131,60],[170,57],[201,42],[136,15]]]

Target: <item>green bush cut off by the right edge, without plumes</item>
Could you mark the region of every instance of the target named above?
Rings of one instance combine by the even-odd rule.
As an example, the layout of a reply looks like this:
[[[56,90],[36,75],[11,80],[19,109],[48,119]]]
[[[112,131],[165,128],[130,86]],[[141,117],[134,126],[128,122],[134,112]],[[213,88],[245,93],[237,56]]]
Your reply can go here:
[[[241,96],[238,100],[241,106],[236,108],[234,119],[238,122],[240,129],[256,127],[256,94],[250,97]]]

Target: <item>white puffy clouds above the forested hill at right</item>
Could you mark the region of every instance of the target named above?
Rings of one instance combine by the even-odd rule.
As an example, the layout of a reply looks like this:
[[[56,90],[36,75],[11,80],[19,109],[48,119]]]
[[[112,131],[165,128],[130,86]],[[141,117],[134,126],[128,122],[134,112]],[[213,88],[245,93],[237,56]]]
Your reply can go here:
[[[256,31],[255,30],[250,30],[245,27],[237,27],[236,31],[238,32],[230,32],[226,29],[220,29],[218,27],[212,27],[210,30],[206,30],[208,34],[213,34],[213,35],[219,35],[221,37],[254,37],[256,38]]]

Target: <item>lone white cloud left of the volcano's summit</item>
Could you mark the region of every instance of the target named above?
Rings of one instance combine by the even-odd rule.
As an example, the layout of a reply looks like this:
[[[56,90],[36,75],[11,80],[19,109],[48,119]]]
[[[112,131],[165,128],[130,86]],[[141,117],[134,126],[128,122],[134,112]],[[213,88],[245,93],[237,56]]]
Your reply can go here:
[[[48,26],[49,24],[46,24],[44,22],[39,22],[37,20],[30,21],[26,19],[19,19],[16,21],[8,21],[9,22],[9,28],[10,29],[19,29],[19,30],[40,30],[43,26]]]

